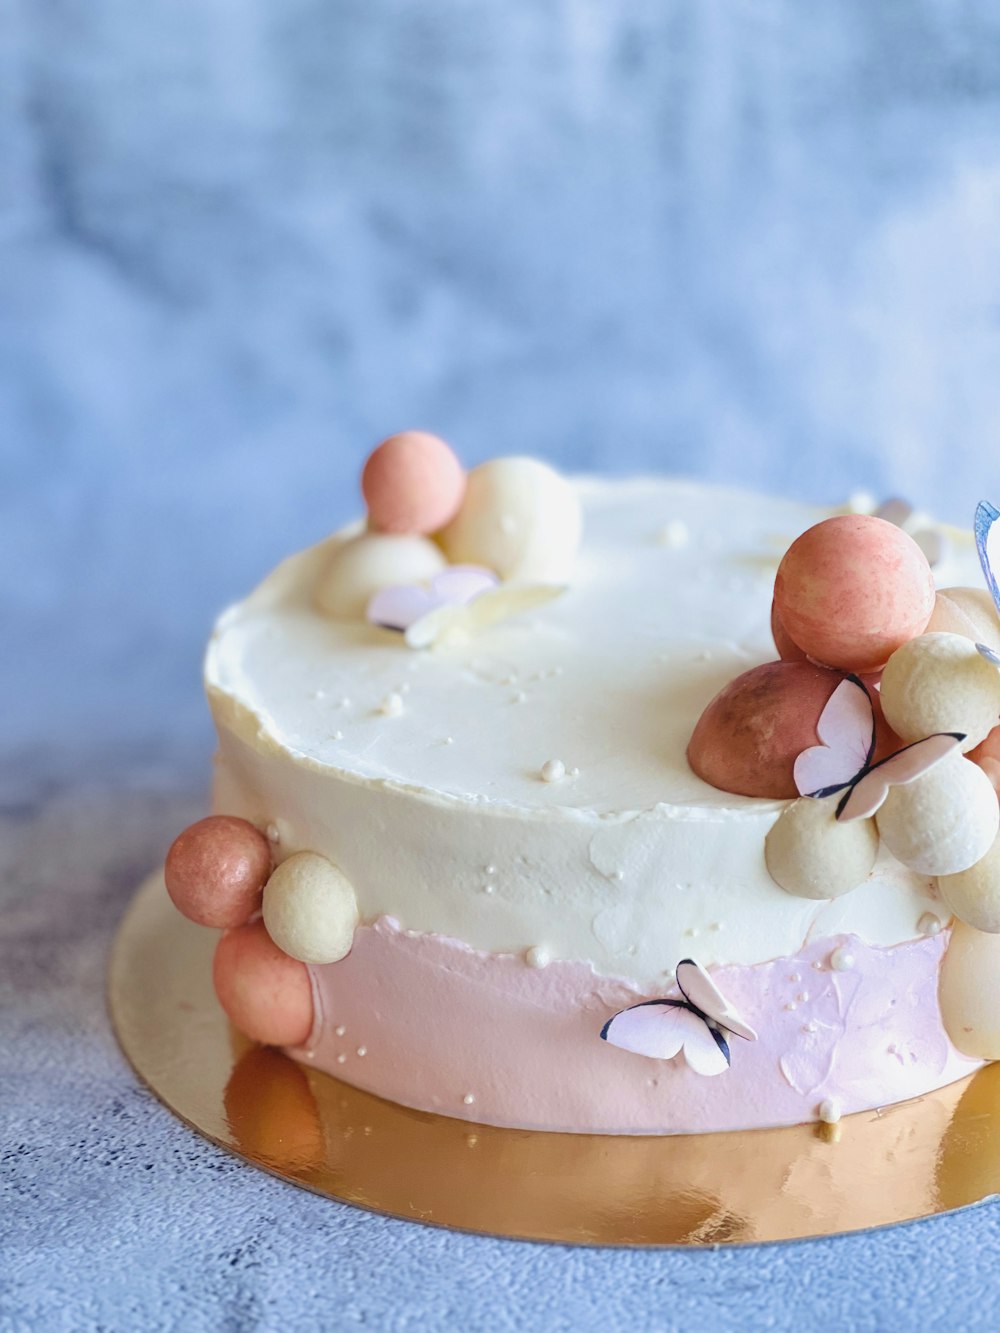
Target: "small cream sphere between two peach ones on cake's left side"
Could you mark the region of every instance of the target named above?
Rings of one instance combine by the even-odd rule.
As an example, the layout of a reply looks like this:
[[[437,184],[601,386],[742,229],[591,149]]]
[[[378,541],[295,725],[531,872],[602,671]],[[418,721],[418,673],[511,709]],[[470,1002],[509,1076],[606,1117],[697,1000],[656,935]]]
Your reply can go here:
[[[300,962],[339,962],[357,926],[351,881],[315,852],[296,852],[264,886],[264,925],[284,953]]]

